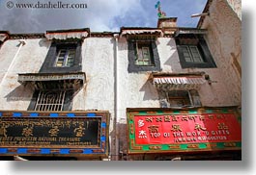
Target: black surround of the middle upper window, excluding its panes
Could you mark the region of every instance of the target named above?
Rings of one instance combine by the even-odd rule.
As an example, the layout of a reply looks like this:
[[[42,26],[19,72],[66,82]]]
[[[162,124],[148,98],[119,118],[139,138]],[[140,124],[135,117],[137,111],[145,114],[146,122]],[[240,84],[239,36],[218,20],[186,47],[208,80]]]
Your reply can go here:
[[[136,42],[143,45],[149,42],[150,53],[152,57],[152,64],[140,65],[136,64]],[[128,72],[138,73],[143,71],[160,71],[160,59],[156,47],[156,39],[128,39]]]

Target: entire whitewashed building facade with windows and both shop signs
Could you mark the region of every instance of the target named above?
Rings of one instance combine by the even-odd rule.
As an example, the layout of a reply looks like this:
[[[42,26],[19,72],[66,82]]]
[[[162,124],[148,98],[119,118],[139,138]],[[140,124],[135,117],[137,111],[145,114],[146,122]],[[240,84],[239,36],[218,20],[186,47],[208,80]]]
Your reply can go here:
[[[1,158],[241,160],[240,7],[208,1],[196,28],[1,31]]]

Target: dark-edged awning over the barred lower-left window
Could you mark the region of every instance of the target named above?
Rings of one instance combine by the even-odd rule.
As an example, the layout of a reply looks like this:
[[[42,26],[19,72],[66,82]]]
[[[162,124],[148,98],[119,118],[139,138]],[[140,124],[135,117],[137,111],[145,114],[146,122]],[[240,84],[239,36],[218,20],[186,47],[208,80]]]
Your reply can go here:
[[[31,84],[35,89],[78,89],[85,84],[84,72],[18,74],[20,84]]]

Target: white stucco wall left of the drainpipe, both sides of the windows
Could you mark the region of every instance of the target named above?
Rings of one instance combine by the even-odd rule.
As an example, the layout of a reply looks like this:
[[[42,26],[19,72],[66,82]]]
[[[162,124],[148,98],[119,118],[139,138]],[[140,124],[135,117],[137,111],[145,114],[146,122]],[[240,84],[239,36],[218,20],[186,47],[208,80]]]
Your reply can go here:
[[[0,109],[26,111],[33,91],[17,82],[18,73],[38,73],[51,41],[46,38],[25,39],[12,67],[19,39],[7,40],[0,49]],[[72,110],[114,111],[114,54],[112,38],[86,38],[82,44],[82,71],[86,84],[73,98]],[[9,71],[7,72],[7,70]],[[0,78],[1,78],[0,77]]]

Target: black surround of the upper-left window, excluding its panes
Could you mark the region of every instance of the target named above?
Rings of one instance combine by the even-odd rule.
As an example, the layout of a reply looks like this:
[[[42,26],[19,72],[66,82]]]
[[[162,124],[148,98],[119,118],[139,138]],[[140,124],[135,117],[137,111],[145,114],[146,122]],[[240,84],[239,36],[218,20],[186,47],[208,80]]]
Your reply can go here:
[[[82,70],[82,41],[79,40],[53,40],[40,73],[65,73],[78,72]],[[56,59],[60,49],[74,48],[75,57],[72,66],[56,66]]]

